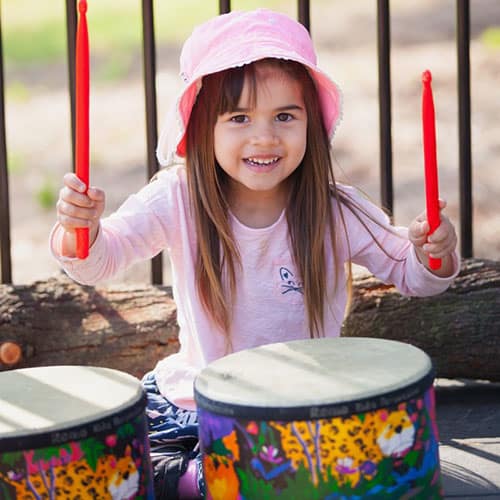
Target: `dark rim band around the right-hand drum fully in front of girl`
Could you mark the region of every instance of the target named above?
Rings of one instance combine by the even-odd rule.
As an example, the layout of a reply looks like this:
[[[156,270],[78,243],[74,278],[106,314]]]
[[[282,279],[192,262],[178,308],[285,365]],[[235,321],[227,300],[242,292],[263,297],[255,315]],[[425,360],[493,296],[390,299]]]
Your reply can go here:
[[[432,388],[435,376],[435,369],[431,366],[426,375],[404,387],[364,398],[309,406],[250,406],[214,401],[204,396],[196,387],[194,388],[194,399],[198,409],[224,417],[263,421],[317,420],[357,415],[409,401]]]

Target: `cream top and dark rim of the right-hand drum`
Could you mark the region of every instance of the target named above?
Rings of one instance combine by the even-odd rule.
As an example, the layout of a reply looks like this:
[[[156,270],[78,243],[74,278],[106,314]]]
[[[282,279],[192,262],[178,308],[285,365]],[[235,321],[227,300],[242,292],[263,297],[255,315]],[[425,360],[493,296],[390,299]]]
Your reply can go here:
[[[422,393],[432,363],[409,344],[324,338],[269,344],[211,363],[195,381],[199,407],[246,418],[311,419],[397,404]]]

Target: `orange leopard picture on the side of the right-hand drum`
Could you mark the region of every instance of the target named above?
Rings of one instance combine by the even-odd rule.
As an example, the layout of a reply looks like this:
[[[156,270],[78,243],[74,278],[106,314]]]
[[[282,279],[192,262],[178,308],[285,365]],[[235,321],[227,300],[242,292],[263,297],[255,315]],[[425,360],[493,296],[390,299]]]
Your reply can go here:
[[[383,457],[400,456],[411,448],[415,428],[404,408],[379,410],[347,418],[315,422],[272,422],[292,467],[303,466],[318,484],[320,475],[338,484],[356,485],[361,476],[371,479]]]

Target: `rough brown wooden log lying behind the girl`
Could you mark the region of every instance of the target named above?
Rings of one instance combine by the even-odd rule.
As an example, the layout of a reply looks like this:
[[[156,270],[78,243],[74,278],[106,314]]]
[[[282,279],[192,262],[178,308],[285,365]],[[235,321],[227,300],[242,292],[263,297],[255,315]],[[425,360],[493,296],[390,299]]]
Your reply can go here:
[[[435,297],[402,297],[373,277],[356,278],[343,328],[346,336],[420,347],[440,377],[492,381],[500,381],[499,334],[500,262],[477,259],[463,261],[452,286]],[[21,359],[8,343],[21,347]],[[178,347],[169,287],[94,288],[63,274],[31,285],[0,285],[0,356],[7,353],[10,360],[0,360],[0,370],[81,364],[141,377]]]

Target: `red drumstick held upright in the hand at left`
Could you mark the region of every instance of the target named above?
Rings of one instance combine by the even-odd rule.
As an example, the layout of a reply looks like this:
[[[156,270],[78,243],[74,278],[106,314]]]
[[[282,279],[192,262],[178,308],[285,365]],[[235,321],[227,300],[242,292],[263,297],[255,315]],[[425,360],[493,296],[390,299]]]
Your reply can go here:
[[[76,34],[76,175],[89,186],[89,34],[87,28],[87,2],[78,4],[80,19]],[[76,229],[76,256],[89,254],[89,228]]]

